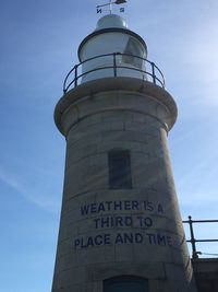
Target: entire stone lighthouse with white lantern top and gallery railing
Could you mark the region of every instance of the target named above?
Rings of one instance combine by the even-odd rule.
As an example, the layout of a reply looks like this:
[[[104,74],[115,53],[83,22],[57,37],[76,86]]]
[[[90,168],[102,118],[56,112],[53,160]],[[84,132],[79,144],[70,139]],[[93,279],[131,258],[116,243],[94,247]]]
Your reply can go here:
[[[78,47],[55,120],[66,140],[52,292],[194,292],[167,135],[177,105],[114,14]]]

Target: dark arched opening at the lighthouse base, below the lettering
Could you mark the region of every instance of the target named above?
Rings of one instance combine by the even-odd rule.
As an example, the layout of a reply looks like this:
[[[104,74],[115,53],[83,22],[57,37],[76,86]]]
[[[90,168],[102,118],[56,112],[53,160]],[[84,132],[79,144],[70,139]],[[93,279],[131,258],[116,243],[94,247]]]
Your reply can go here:
[[[122,276],[104,281],[104,292],[148,292],[148,280]]]

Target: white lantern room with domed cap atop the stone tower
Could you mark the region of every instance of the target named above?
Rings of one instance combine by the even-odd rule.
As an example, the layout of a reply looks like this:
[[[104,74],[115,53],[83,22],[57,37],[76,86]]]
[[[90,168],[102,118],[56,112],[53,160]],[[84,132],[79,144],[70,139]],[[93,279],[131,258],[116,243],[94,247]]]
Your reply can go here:
[[[78,47],[82,83],[114,75],[145,80],[146,57],[147,47],[142,37],[128,30],[121,16],[106,15]]]

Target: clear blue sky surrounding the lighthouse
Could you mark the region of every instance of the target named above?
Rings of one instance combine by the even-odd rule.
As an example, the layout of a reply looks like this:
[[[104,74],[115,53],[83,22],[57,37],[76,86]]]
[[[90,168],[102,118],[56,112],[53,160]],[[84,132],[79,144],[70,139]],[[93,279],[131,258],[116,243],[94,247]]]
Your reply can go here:
[[[0,282],[51,288],[65,142],[53,124],[62,82],[104,1],[2,1],[0,11]],[[129,27],[147,43],[179,107],[169,148],[183,219],[217,219],[218,1],[129,0]],[[204,225],[198,236],[218,237]],[[198,250],[218,253],[216,244]]]

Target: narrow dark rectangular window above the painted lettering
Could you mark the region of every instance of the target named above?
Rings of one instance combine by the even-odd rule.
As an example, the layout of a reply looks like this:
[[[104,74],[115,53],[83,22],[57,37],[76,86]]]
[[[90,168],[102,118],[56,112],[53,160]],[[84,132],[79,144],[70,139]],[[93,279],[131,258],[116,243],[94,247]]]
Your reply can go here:
[[[130,151],[112,150],[108,153],[110,189],[132,188]]]

